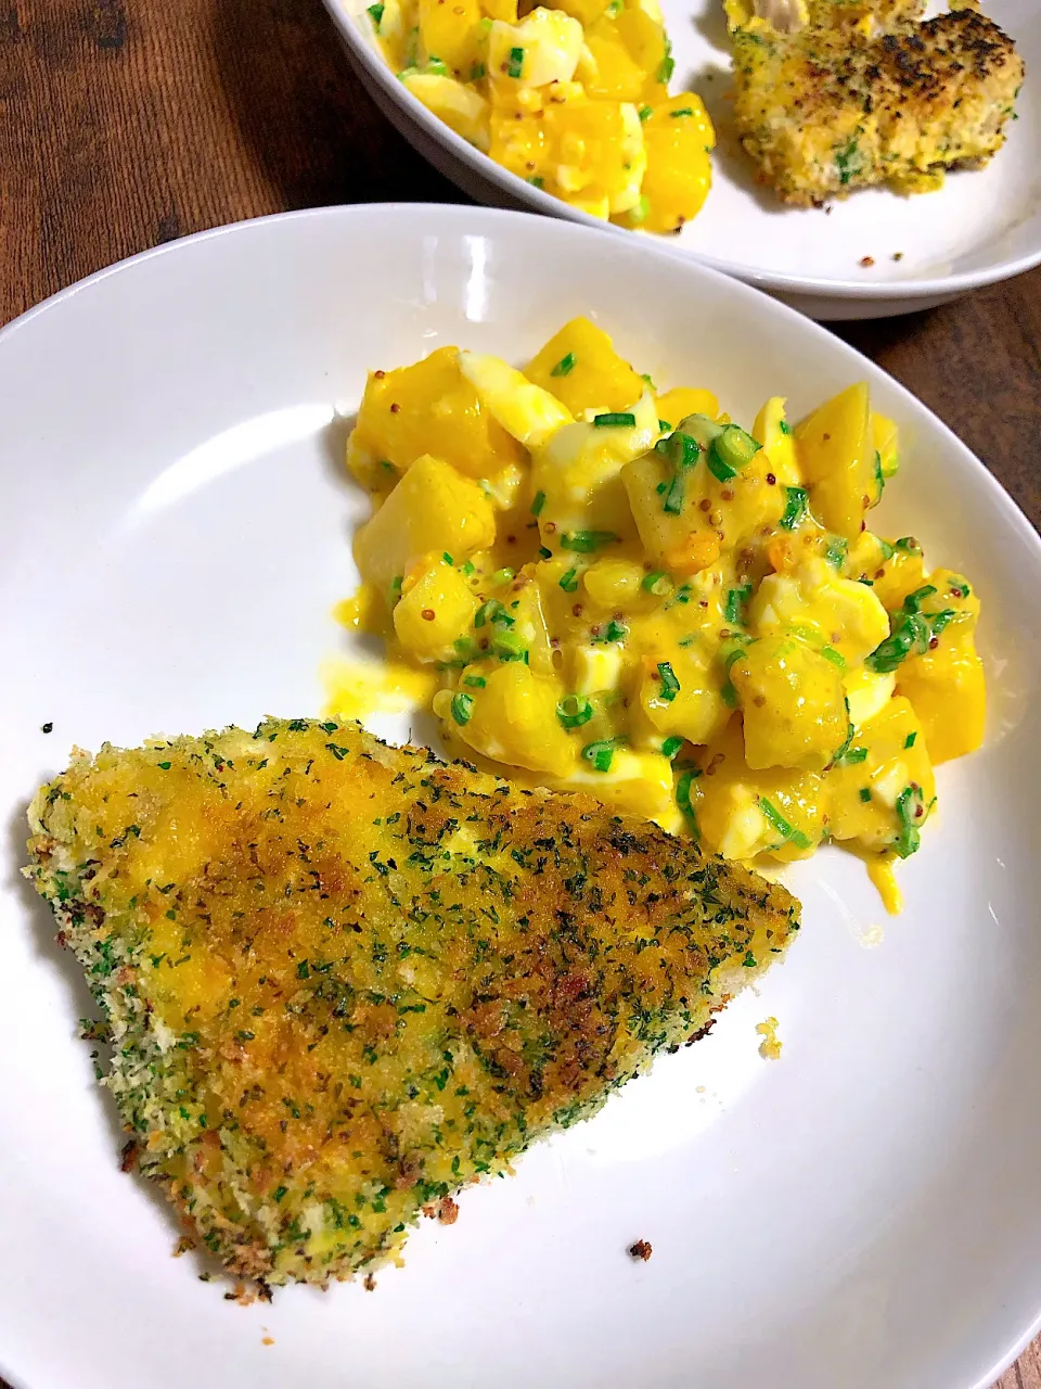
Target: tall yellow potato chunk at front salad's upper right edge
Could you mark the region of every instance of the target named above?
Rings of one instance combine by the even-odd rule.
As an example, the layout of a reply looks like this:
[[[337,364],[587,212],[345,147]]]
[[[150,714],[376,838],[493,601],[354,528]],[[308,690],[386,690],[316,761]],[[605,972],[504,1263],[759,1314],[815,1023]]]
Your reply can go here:
[[[815,515],[829,531],[855,540],[879,500],[874,431],[867,385],[840,392],[795,431],[802,475]]]

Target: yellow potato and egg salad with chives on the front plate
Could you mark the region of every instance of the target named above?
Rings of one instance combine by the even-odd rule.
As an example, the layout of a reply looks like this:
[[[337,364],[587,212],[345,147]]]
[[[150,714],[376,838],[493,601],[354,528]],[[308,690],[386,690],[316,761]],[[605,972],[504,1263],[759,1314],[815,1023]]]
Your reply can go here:
[[[584,318],[518,369],[440,347],[369,375],[355,611],[436,672],[455,756],[590,792],[726,858],[834,840],[890,868],[979,746],[979,599],[867,514],[897,429],[852,385],[751,429]]]

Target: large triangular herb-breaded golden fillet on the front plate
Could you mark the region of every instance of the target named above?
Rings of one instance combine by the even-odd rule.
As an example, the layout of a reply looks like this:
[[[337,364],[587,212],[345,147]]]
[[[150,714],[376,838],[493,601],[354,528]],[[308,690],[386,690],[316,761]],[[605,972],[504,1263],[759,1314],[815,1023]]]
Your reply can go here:
[[[350,1276],[693,1040],[798,904],[358,725],[79,754],[31,810],[142,1170],[237,1276]]]

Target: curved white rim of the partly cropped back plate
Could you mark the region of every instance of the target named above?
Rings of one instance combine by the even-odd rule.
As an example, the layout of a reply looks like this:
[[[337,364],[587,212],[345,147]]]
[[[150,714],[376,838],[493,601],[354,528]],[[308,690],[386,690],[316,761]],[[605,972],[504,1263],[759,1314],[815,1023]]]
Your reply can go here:
[[[561,199],[533,188],[516,174],[502,168],[501,164],[464,140],[451,126],[440,121],[423,103],[412,96],[407,86],[390,71],[383,57],[366,42],[361,31],[361,21],[353,15],[346,6],[346,0],[322,0],[330,19],[336,25],[340,39],[347,49],[347,54],[355,65],[364,69],[364,78],[379,86],[383,97],[389,100],[409,124],[418,125],[429,140],[444,147],[457,163],[468,165],[475,175],[486,183],[494,183],[505,197],[518,207],[534,207],[540,213],[565,222],[577,222],[590,229],[607,229],[612,236],[630,236],[632,232],[612,222],[602,222],[598,217],[583,213],[576,207],[569,207]],[[369,93],[372,96],[372,93]],[[375,99],[373,99],[375,100]],[[376,103],[379,104],[379,103]],[[382,113],[386,117],[386,113]],[[389,117],[386,117],[389,118]],[[411,143],[411,142],[409,142]],[[423,153],[429,163],[429,156]],[[457,182],[452,175],[447,175]],[[458,186],[458,182],[457,182]],[[487,206],[487,204],[484,204]],[[694,260],[697,264],[715,269],[731,279],[754,285],[779,294],[813,296],[820,299],[836,299],[843,301],[899,301],[906,303],[906,313],[913,313],[917,300],[936,300],[938,296],[954,299],[969,293],[973,289],[984,289],[988,285],[999,285],[1005,281],[1024,275],[1027,271],[1041,265],[1041,235],[1033,251],[1012,260],[997,261],[976,271],[962,271],[958,275],[934,276],[931,279],[862,282],[855,279],[816,279],[805,275],[788,275],[783,271],[763,271],[755,267],[729,261],[716,256],[705,254],[695,247],[680,249],[668,242],[666,238],[654,238],[637,233],[641,243],[647,244],[651,254],[665,254],[680,260]],[[926,306],[929,307],[929,306]]]

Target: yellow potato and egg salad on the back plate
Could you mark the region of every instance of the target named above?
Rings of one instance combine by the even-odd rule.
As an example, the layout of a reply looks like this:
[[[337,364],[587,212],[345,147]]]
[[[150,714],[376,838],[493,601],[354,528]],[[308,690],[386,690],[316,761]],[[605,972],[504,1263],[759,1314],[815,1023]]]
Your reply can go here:
[[[648,232],[701,210],[715,131],[698,96],[669,96],[658,0],[555,0],[522,17],[518,0],[382,0],[368,14],[412,96],[518,178]]]

